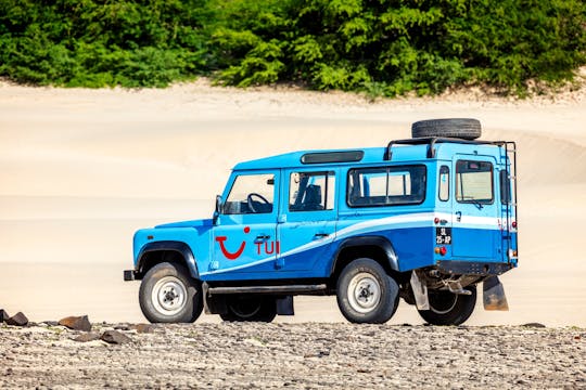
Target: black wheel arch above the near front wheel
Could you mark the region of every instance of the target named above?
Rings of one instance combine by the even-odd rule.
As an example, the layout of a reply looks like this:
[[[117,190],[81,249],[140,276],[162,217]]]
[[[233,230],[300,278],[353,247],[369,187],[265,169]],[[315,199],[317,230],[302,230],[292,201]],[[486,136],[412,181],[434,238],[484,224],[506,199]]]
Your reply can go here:
[[[144,245],[138,255],[137,278],[140,280],[154,265],[162,262],[178,262],[183,264],[191,277],[199,280],[200,272],[195,257],[190,246],[183,242],[161,240]]]

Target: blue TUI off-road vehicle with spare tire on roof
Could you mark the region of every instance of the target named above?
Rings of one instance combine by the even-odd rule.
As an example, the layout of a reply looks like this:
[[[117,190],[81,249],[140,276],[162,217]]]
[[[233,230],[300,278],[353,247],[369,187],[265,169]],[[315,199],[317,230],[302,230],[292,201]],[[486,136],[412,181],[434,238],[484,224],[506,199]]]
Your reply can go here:
[[[293,297],[335,295],[354,323],[384,323],[399,297],[431,324],[461,324],[476,285],[507,310],[517,266],[515,148],[475,119],[412,125],[386,147],[294,152],[238,164],[212,219],[135,234],[151,322],[270,322]]]

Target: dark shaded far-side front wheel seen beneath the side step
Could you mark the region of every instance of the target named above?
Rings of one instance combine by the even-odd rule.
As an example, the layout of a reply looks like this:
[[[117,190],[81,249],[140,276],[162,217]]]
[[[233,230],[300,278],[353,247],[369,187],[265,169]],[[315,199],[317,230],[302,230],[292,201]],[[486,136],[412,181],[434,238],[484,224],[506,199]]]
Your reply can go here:
[[[269,323],[277,316],[277,302],[272,297],[260,296],[228,296],[226,298],[224,321],[230,322],[265,322]]]

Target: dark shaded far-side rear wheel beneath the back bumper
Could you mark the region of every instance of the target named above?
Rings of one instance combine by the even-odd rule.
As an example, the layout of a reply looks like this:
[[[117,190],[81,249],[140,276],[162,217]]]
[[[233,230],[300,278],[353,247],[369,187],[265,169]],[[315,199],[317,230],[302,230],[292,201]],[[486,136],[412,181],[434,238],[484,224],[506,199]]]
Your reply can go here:
[[[464,289],[471,295],[456,295],[449,291],[428,291],[430,310],[419,310],[423,320],[432,325],[460,325],[463,324],[476,306],[476,286]]]

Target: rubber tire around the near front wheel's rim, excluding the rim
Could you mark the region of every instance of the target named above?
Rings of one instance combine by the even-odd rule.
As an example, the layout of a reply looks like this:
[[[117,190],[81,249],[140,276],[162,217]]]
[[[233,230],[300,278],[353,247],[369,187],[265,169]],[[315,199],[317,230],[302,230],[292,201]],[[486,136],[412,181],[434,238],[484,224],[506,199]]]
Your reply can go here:
[[[158,281],[166,276],[176,277],[187,291],[183,308],[173,315],[161,313],[152,301],[153,288]],[[189,272],[183,265],[168,262],[160,263],[144,275],[140,284],[139,302],[142,313],[151,323],[190,323],[200,316],[203,309],[201,284],[189,276]]]

